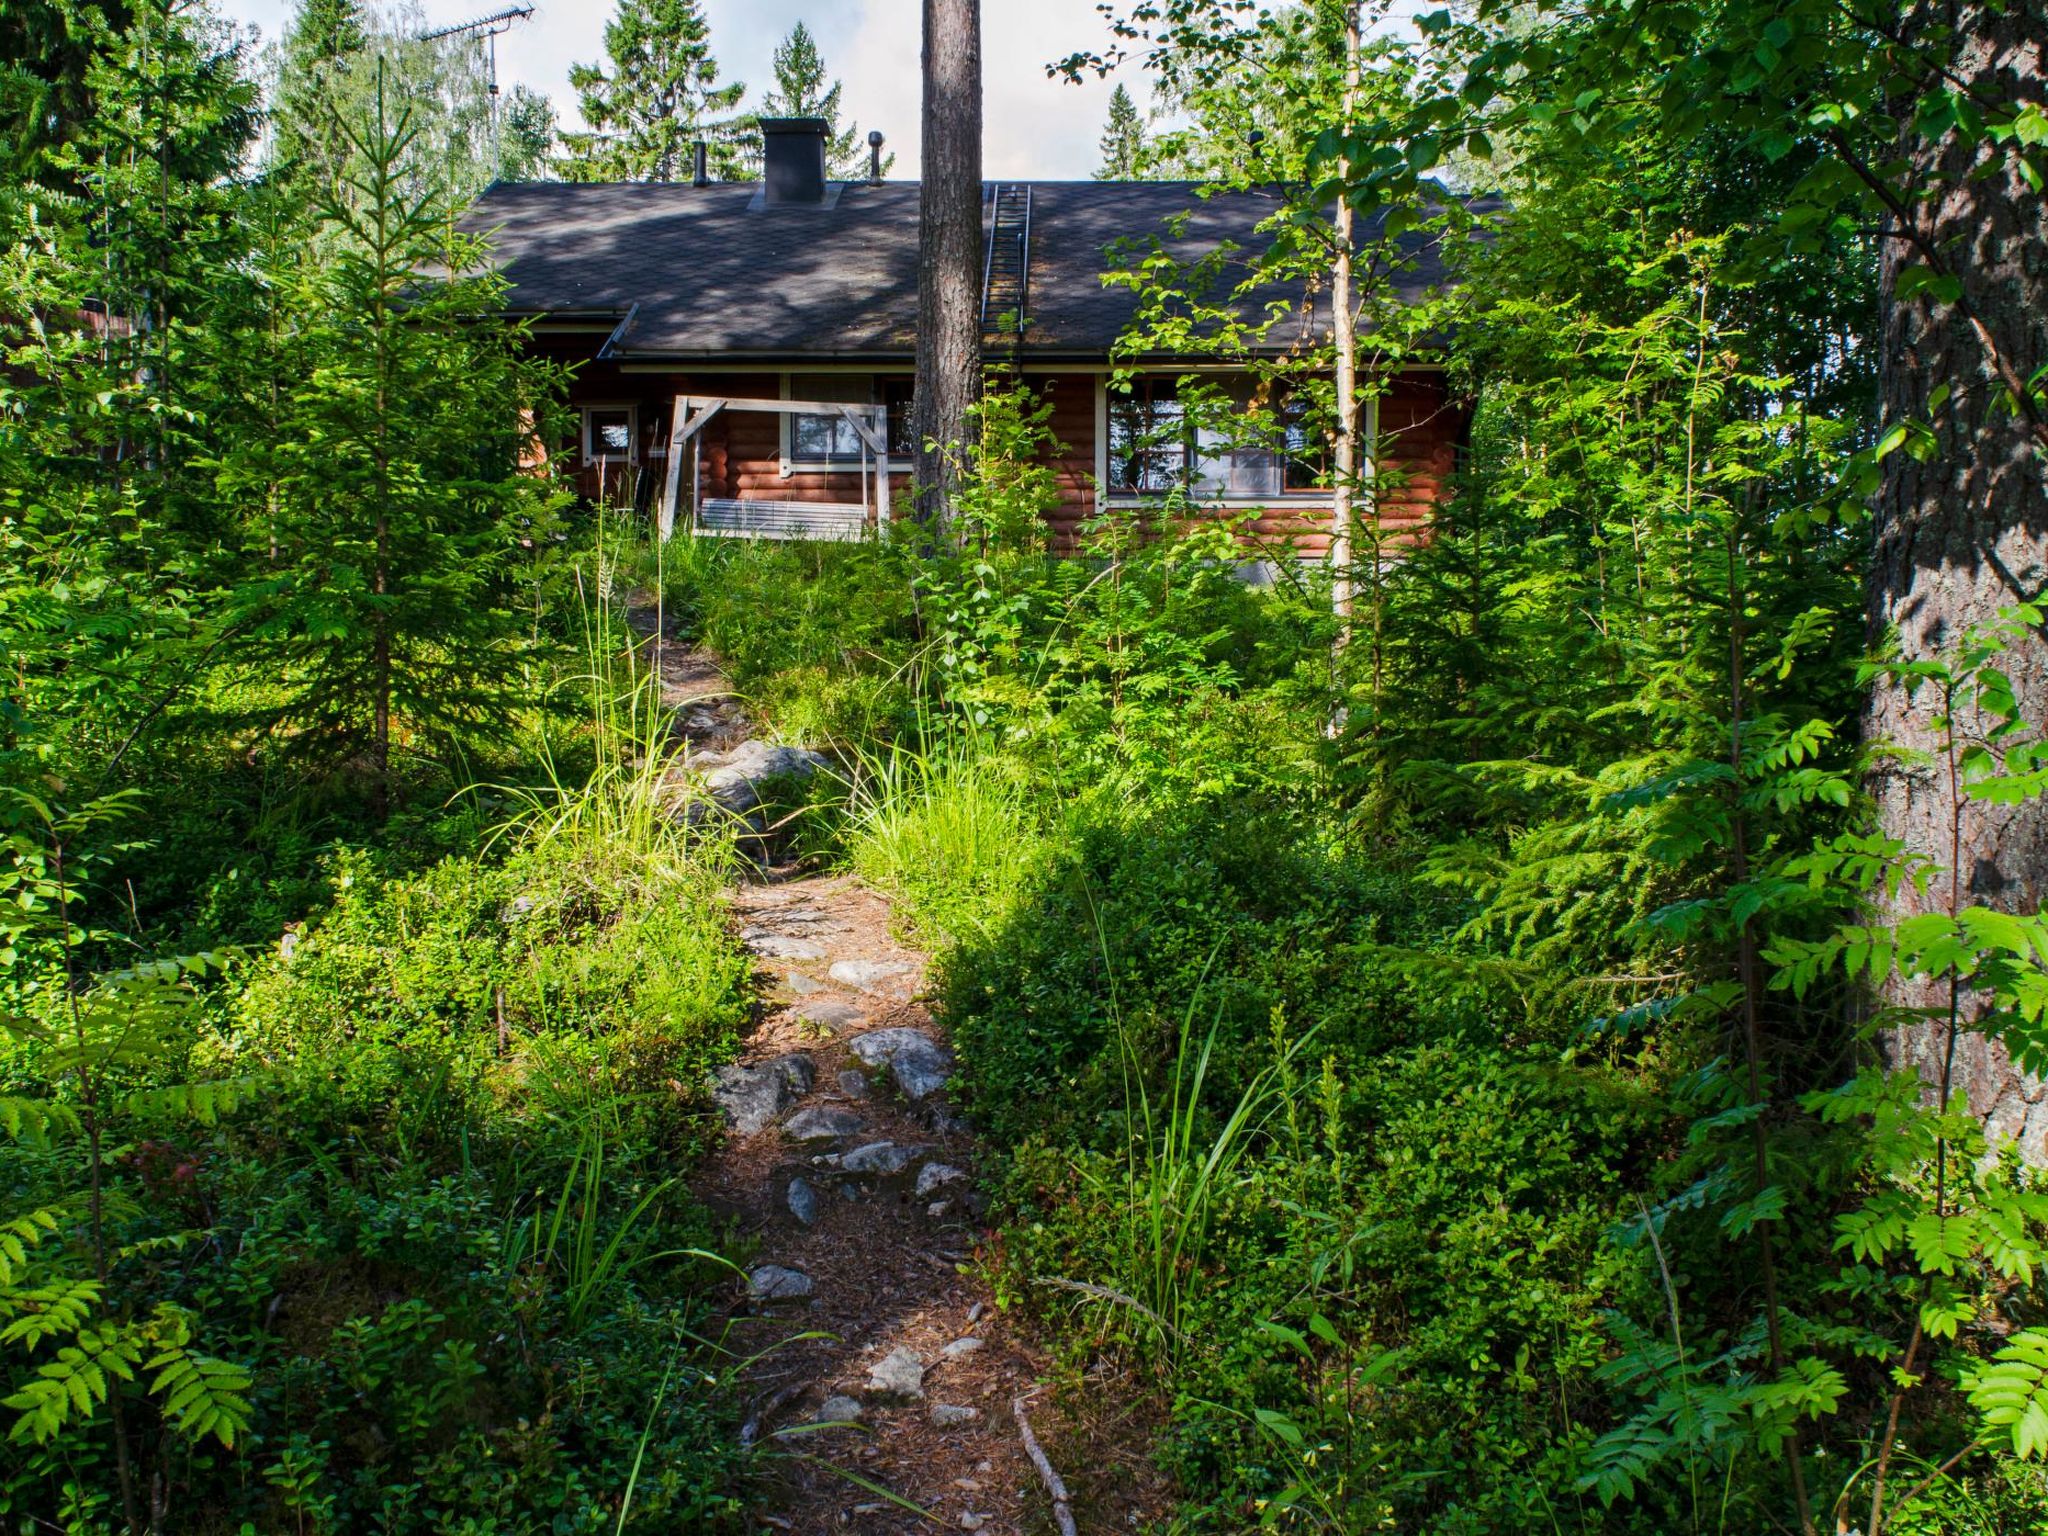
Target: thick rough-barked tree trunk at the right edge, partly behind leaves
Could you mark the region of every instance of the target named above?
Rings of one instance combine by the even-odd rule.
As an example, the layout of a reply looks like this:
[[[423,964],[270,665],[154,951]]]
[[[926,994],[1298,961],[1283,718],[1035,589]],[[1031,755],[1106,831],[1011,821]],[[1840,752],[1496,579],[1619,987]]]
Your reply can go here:
[[[2038,4],[2003,14],[1974,2],[1933,6],[1952,27],[1950,68],[1987,96],[2042,100],[2048,23]],[[1939,451],[1925,463],[1907,453],[1884,461],[1870,578],[1872,637],[1896,633],[1905,657],[1950,653],[1964,633],[2017,602],[2048,592],[2048,436],[2038,408],[2015,410],[2009,381],[2048,362],[2048,217],[2007,150],[1966,133],[1925,139],[1901,129],[1909,176],[1884,229],[1882,397],[1886,422],[1933,426]],[[1925,291],[1896,297],[1898,279],[1931,266],[1962,285],[1956,303]],[[1935,391],[1948,399],[1935,403]],[[2048,723],[2048,639],[2032,633],[2003,664],[2025,717]],[[1866,737],[1929,752],[1937,743],[1937,698],[1915,702],[1880,686]],[[1968,729],[1968,721],[1964,727]],[[1909,848],[1950,862],[1948,795],[1937,764],[1888,762],[1874,778],[1882,829]],[[2048,891],[2048,805],[1962,811],[1964,903],[2036,911]],[[1946,881],[1925,895],[1901,893],[1886,918],[1946,905]],[[1931,993],[1896,989],[1890,1001],[1929,1006]],[[1939,1081],[1946,1030],[1921,1026],[1888,1040],[1898,1065]],[[2032,1161],[2048,1161],[2048,1087],[2023,1077],[2005,1049],[1980,1034],[1960,1040],[1954,1083],[1995,1135],[2017,1137]]]

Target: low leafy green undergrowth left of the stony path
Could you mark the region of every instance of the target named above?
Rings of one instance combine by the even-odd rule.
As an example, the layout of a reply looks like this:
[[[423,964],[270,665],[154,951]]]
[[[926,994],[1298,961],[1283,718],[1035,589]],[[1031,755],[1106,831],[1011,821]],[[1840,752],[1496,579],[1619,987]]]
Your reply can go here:
[[[37,920],[53,866],[14,854]],[[231,985],[96,981],[88,1018],[152,1024],[84,1077],[35,1022],[70,991],[55,950],[18,930],[0,1509],[106,1530],[150,1479],[180,1526],[598,1532],[645,1438],[631,1528],[737,1516],[705,1386],[723,1272],[674,1180],[745,965],[715,868],[588,854],[338,854],[328,909]]]

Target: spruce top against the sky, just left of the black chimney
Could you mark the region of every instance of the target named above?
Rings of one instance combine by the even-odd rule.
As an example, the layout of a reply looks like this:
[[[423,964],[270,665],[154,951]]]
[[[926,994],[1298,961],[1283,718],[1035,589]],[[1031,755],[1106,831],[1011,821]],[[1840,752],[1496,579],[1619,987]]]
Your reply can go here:
[[[711,145],[719,176],[745,174],[743,123],[725,117],[745,86],[719,84],[700,0],[618,0],[604,63],[575,63],[569,84],[588,133],[565,133],[571,180],[672,182],[690,174],[690,141]]]

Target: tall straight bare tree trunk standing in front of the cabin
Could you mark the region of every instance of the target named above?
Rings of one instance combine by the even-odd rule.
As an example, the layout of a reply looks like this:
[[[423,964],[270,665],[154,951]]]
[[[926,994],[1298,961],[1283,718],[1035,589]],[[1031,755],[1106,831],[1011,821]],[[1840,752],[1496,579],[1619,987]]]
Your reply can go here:
[[[918,188],[915,512],[952,514],[981,393],[981,4],[924,0],[924,180]],[[928,446],[932,444],[932,446]]]

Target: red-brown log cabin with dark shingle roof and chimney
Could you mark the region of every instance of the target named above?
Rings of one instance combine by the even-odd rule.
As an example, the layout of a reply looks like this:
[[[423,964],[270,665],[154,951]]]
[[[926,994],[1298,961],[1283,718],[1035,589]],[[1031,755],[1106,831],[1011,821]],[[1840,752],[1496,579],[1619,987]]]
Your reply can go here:
[[[821,119],[762,129],[758,182],[709,180],[698,147],[690,182],[496,184],[465,223],[489,238],[532,346],[573,365],[561,453],[584,496],[629,502],[664,532],[860,537],[909,492],[918,184],[829,180]],[[1247,449],[1184,420],[1190,379],[1227,391],[1243,362],[1135,348],[1139,295],[1104,281],[1118,252],[1151,240],[1174,262],[1243,262],[1270,244],[1260,225],[1278,207],[1194,182],[985,188],[985,360],[1051,403],[1051,547],[1178,487],[1260,545],[1327,549],[1325,444],[1290,434],[1286,453]],[[1444,270],[1430,242],[1407,240],[1397,297],[1419,297]],[[1290,303],[1290,324],[1260,342],[1274,354],[1327,338],[1327,295]],[[1440,371],[1382,379],[1368,412],[1382,530],[1399,539],[1427,518],[1466,428]]]

